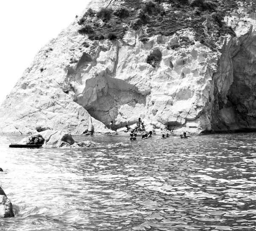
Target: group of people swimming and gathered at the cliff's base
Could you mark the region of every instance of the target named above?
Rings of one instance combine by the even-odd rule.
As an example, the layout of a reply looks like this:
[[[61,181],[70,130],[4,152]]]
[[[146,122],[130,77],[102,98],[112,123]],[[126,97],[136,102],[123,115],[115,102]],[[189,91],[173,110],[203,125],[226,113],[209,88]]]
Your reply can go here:
[[[113,130],[112,126],[113,126],[113,121],[111,121],[111,123],[110,123],[110,129],[111,130]],[[142,139],[152,138],[153,132],[152,131],[146,131],[145,125],[141,121],[141,118],[139,118],[137,120],[136,127],[134,129],[128,127],[128,125],[125,125],[125,127],[126,127],[127,130],[125,130],[124,132],[130,132],[130,140],[137,140],[137,133],[138,132],[143,132],[142,137],[141,137]],[[167,137],[169,137],[168,133],[162,134],[162,139],[166,139]],[[183,134],[180,135],[181,139],[188,138],[188,137],[191,137],[191,136],[187,136],[186,132],[183,132]]]

